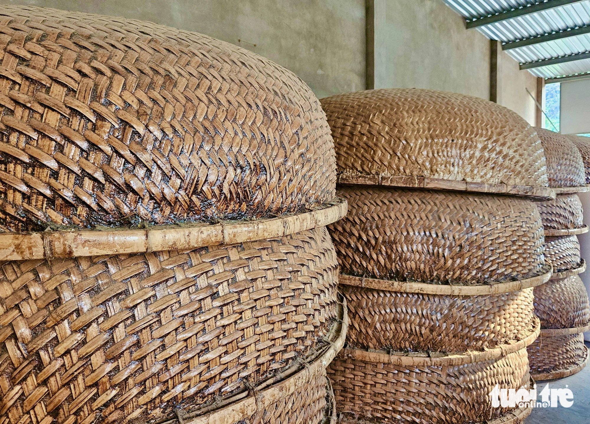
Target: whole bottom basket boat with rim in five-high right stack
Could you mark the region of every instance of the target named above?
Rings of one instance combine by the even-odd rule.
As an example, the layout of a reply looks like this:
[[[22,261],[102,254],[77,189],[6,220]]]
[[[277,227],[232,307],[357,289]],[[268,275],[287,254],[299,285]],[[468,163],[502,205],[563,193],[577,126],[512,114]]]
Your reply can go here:
[[[542,330],[535,343],[527,348],[530,373],[537,381],[563,379],[578,373],[588,364],[588,348],[583,328]]]

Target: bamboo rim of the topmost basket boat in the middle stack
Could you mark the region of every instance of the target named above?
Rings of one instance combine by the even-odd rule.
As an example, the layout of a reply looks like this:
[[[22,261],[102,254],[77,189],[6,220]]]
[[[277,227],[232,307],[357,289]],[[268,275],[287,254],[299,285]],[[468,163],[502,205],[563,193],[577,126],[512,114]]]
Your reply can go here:
[[[440,178],[407,177],[402,175],[338,175],[339,184],[381,185],[383,187],[425,188],[427,190],[467,191],[468,193],[505,194],[527,197],[532,200],[553,200],[555,188],[533,187],[532,185],[486,184],[485,182],[469,182],[442,180]],[[578,187],[576,187],[578,188]],[[578,193],[578,192],[576,192]]]

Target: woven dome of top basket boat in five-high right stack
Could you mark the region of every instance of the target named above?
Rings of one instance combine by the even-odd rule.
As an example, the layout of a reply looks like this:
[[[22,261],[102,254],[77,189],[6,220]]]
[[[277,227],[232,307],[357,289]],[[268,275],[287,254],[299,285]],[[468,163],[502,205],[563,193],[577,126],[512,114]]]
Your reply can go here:
[[[578,187],[586,184],[582,155],[569,136],[536,128],[547,163],[549,187]]]

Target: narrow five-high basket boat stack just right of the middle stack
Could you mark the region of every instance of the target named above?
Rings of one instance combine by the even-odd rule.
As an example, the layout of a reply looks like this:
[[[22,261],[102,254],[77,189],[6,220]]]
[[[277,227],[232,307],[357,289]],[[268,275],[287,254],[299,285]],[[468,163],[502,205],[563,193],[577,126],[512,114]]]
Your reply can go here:
[[[584,331],[590,329],[590,304],[578,274],[586,263],[580,257],[576,234],[588,231],[582,203],[575,193],[587,190],[585,167],[572,136],[538,130],[547,159],[550,187],[556,200],[539,203],[545,228],[545,257],[553,265],[549,282],[535,288],[535,314],[541,334],[529,346],[533,378],[553,380],[580,371],[588,362]]]

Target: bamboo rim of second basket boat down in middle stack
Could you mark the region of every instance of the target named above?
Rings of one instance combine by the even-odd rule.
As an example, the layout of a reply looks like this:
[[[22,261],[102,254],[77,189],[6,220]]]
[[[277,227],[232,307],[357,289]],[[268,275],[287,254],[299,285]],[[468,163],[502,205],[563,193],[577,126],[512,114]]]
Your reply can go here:
[[[383,290],[388,292],[423,293],[427,295],[447,296],[476,296],[494,295],[498,293],[516,292],[529,287],[539,286],[551,278],[553,268],[546,266],[545,273],[535,277],[525,278],[505,283],[484,284],[477,286],[451,286],[443,284],[417,283],[410,281],[381,280],[377,278],[354,277],[352,275],[340,274],[339,284],[347,286],[363,287],[368,289]]]

